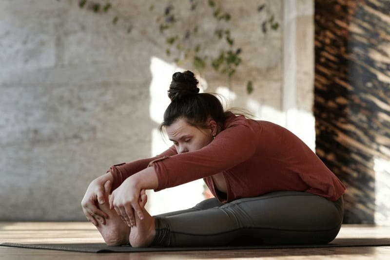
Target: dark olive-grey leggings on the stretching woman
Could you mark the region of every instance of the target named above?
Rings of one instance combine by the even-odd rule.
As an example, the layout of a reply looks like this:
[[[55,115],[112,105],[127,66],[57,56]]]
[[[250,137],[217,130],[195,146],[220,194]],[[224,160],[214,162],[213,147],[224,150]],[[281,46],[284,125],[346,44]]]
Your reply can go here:
[[[276,191],[156,215],[151,246],[222,246],[328,243],[341,227],[343,197],[336,201],[306,192]]]

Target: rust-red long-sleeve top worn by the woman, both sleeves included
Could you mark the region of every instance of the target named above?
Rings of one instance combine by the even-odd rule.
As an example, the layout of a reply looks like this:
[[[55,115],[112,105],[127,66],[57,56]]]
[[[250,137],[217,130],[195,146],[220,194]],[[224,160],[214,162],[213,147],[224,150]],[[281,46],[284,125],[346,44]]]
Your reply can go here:
[[[265,120],[230,114],[222,131],[200,150],[177,154],[175,146],[153,158],[111,166],[113,190],[127,177],[155,168],[155,191],[203,178],[221,202],[271,191],[305,191],[337,200],[344,184],[298,137]],[[212,175],[223,173],[227,198],[216,192]]]

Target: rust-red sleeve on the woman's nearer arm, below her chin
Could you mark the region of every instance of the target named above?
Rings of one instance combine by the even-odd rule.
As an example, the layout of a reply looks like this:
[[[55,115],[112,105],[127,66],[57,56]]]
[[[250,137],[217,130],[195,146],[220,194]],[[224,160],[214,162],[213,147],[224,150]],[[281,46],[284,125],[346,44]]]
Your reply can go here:
[[[256,131],[249,123],[229,126],[205,147],[156,160],[154,166],[158,187],[174,187],[228,170],[251,158],[257,145]]]

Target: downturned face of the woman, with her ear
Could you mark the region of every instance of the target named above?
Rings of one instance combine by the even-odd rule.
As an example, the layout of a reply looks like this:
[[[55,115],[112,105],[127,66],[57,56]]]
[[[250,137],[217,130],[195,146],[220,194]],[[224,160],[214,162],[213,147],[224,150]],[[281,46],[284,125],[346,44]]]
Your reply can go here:
[[[215,121],[211,121],[215,122]],[[210,123],[210,122],[209,122]],[[200,129],[189,125],[184,119],[179,118],[173,124],[166,127],[169,140],[174,142],[177,153],[186,153],[199,150],[213,140],[214,123],[210,129]]]

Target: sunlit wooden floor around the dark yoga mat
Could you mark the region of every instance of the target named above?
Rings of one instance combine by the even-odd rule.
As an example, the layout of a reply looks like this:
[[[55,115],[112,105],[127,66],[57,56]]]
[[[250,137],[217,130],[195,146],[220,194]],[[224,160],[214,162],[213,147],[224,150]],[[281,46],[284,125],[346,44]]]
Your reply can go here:
[[[390,238],[390,227],[344,225],[338,238]],[[104,242],[89,222],[0,222],[0,243]],[[390,246],[140,253],[78,253],[0,246],[0,259],[390,259]]]

